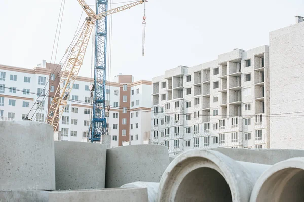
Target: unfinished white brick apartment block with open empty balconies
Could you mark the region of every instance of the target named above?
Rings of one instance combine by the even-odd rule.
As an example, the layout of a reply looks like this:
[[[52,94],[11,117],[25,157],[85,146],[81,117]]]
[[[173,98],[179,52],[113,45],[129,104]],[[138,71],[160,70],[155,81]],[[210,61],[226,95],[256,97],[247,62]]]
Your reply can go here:
[[[151,143],[191,148],[269,148],[269,47],[153,78]]]

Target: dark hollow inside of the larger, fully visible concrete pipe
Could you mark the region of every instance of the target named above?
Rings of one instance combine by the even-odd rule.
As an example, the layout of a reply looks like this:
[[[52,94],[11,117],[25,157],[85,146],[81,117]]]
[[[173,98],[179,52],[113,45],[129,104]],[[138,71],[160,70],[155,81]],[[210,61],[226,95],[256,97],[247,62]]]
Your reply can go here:
[[[181,181],[175,201],[232,201],[225,178],[211,168],[198,168]]]

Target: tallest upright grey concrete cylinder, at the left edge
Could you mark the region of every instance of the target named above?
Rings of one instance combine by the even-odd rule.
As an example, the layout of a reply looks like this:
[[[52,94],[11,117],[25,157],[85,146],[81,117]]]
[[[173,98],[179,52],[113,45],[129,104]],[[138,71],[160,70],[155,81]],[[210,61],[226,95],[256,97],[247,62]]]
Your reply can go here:
[[[52,126],[0,121],[0,190],[55,190]]]

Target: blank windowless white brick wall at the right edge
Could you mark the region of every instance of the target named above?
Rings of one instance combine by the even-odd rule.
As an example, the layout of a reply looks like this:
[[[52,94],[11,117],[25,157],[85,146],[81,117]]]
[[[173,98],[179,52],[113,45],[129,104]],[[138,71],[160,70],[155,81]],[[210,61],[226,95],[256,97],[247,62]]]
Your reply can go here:
[[[270,32],[271,148],[304,149],[304,22]]]

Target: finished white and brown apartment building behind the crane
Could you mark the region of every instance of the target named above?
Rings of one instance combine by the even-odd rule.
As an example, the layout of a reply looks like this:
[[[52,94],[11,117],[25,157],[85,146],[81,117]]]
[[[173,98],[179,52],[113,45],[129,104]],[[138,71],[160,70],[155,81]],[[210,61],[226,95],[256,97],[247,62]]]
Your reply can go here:
[[[44,122],[60,83],[61,66],[43,61],[34,69],[0,65],[0,115],[2,120],[29,119]],[[87,142],[92,114],[93,79],[77,77],[57,131],[61,141]],[[10,89],[11,88],[11,89]],[[49,90],[50,89],[50,90]],[[42,96],[37,99],[37,93]],[[118,75],[106,82],[106,113],[111,147],[148,143],[150,132],[151,82],[136,81],[133,76]],[[30,111],[31,107],[32,110]],[[36,109],[38,109],[36,111]],[[147,137],[148,134],[148,137]]]

